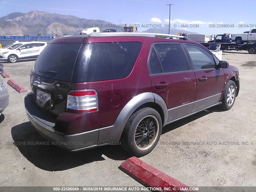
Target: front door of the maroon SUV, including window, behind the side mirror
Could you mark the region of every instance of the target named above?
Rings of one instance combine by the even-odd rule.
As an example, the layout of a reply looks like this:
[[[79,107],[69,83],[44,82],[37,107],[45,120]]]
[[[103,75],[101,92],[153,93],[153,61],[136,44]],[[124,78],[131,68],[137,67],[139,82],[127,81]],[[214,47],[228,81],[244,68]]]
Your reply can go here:
[[[196,75],[196,102],[192,112],[202,110],[220,101],[224,72],[216,68],[214,56],[196,44],[185,44]]]

